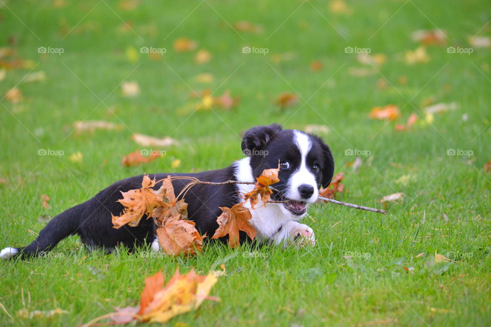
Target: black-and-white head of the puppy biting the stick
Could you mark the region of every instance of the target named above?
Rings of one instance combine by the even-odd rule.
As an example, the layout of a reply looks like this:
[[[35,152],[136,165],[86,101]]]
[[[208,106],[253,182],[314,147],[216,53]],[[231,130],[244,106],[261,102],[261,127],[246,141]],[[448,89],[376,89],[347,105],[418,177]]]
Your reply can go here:
[[[320,186],[327,186],[334,174],[334,160],[329,147],[316,135],[282,129],[278,124],[256,126],[242,139],[242,152],[251,157],[254,177],[264,169],[278,168],[280,181],[273,184],[273,200],[285,214],[301,217],[306,206],[319,196]]]

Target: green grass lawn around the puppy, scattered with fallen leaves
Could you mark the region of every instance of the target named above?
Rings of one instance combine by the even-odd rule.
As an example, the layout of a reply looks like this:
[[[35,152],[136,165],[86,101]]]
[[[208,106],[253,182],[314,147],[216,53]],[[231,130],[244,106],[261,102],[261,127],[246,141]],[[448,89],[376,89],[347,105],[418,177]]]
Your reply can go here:
[[[73,237],[47,258],[0,263],[2,325],[79,325],[115,306],[137,305],[145,276],[159,269],[207,272],[222,262],[227,275],[212,290],[221,302],[206,301],[168,325],[491,322],[491,175],[483,169],[491,159],[490,50],[449,54],[446,46],[429,46],[428,63],[409,66],[403,60],[407,50],[418,46],[410,38],[418,29],[437,26],[447,32],[448,45],[463,48],[470,46],[469,36],[489,36],[488,3],[350,1],[352,13],[343,15],[331,13],[321,1],[148,1],[132,11],[109,1],[65,2],[61,8],[53,8],[52,1],[0,3],[0,44],[35,61],[33,72],[47,75],[43,82],[18,85],[24,95],[20,104],[0,102],[0,178],[6,180],[0,184],[1,248],[27,245],[45,224],[38,217],[54,217],[116,180],[228,166],[241,157],[242,131],[273,122],[288,128],[329,126],[322,136],[333,151],[336,171],[346,174],[340,200],[380,207],[384,195],[404,192],[406,198],[389,205],[385,216],[337,205],[313,207],[305,222],[314,228],[317,246],[301,250],[232,250],[211,244],[203,255],[171,259],[149,257],[148,249],[90,253]],[[121,19],[131,22],[135,33],[121,32]],[[264,32],[237,34],[229,23],[239,20],[260,24]],[[10,36],[14,45],[8,43]],[[212,60],[196,65],[195,52],[175,53],[172,43],[178,37],[196,40]],[[245,45],[267,48],[269,54],[242,54]],[[41,55],[38,46],[63,48],[64,53]],[[140,55],[130,62],[126,49],[140,46],[163,47],[167,53],[159,61]],[[346,46],[370,48],[387,61],[374,75],[351,76],[350,68],[370,66],[346,54]],[[275,55],[285,53],[292,59],[276,63]],[[321,72],[310,71],[313,60],[323,62]],[[28,72],[7,71],[0,97]],[[215,79],[197,83],[193,78],[200,73]],[[400,85],[403,75],[408,82]],[[378,89],[379,79],[387,79],[388,86]],[[137,81],[140,96],[122,97],[123,80]],[[240,96],[240,105],[230,112],[176,114],[190,101],[191,88],[210,88],[215,95],[229,89]],[[286,91],[298,92],[298,104],[279,110],[274,99]],[[432,125],[420,124],[430,97],[459,108],[436,114]],[[396,132],[394,123],[368,118],[372,107],[391,103],[402,108],[404,121],[411,112],[418,114],[412,131]],[[468,120],[462,120],[463,114]],[[123,129],[72,133],[73,122],[85,119],[122,124]],[[172,136],[181,146],[166,149],[166,156],[150,164],[124,168],[122,156],[138,149],[130,139],[133,132]],[[38,156],[39,149],[64,155]],[[346,167],[354,159],[346,149],[370,151],[359,172]],[[448,149],[473,155],[449,156]],[[77,151],[83,160],[74,163],[69,156]],[[182,159],[181,167],[171,169],[176,158]],[[412,176],[408,183],[396,182],[404,175]],[[41,206],[41,194],[50,197],[51,208]],[[435,252],[456,262],[426,265]],[[18,317],[23,308],[68,313],[51,319]]]

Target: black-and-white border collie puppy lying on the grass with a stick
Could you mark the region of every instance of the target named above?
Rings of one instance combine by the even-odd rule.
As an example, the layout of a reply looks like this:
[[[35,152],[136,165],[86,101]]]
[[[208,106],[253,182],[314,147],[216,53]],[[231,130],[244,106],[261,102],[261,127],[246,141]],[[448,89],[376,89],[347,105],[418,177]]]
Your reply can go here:
[[[334,161],[329,147],[318,136],[282,129],[280,125],[272,124],[248,130],[242,139],[242,152],[245,158],[224,169],[197,174],[150,174],[149,177],[160,180],[170,175],[192,176],[213,182],[255,181],[255,177],[264,169],[277,168],[279,162],[280,181],[272,185],[276,191],[271,199],[287,202],[262,206],[260,201],[251,210],[250,222],[257,230],[257,238],[284,245],[295,242],[299,237],[315,241],[313,230],[298,221],[305,216],[307,206],[317,200],[319,186],[327,186],[331,181]],[[111,222],[111,214],[118,216],[123,211],[123,205],[117,202],[122,198],[121,192],[141,188],[142,179],[143,176],[130,177],[110,185],[92,199],[54,217],[28,246],[7,247],[0,252],[0,257],[37,256],[50,251],[59,241],[74,234],[78,234],[82,243],[89,248],[103,248],[109,252],[118,245],[132,250],[138,245],[151,244],[154,250],[159,250],[152,219],[144,217],[136,227],[125,225],[119,229],[113,228]],[[188,182],[173,180],[175,194],[180,193]],[[160,188],[160,184],[155,185],[155,189]],[[196,223],[200,233],[213,235],[218,228],[216,219],[221,214],[219,207],[232,207],[241,202],[240,194],[252,191],[253,188],[254,185],[246,184],[197,184],[185,198],[189,220]],[[250,208],[250,203],[247,202],[245,206]],[[247,236],[241,231],[240,241],[246,239]]]

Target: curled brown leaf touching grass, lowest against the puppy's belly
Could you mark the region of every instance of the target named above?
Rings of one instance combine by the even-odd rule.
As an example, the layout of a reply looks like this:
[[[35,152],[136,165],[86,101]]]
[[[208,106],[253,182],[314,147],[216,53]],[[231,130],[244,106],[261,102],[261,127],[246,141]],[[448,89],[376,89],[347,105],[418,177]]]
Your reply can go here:
[[[203,238],[189,220],[171,220],[157,228],[157,239],[162,250],[169,255],[194,255],[203,249]]]

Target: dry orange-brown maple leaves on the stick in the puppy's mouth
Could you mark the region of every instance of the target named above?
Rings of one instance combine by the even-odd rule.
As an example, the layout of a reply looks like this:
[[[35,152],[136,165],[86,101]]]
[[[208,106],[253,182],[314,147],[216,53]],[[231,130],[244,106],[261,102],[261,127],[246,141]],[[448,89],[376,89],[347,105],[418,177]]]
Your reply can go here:
[[[254,240],[256,230],[250,224],[252,218],[248,208],[244,203],[250,201],[251,207],[259,202],[266,202],[270,199],[270,185],[279,181],[279,168],[265,169],[257,178],[254,189],[244,195],[244,202],[240,202],[231,208],[220,207],[222,214],[217,218],[218,228],[212,239],[229,237],[229,245],[232,248],[239,246],[239,231],[242,230]],[[150,179],[148,175],[143,176],[142,187],[140,189],[121,192],[123,198],[119,199],[123,205],[123,212],[120,216],[111,214],[114,228],[121,228],[128,224],[136,227],[140,220],[152,218],[157,225],[157,239],[162,250],[169,255],[195,255],[203,249],[203,239],[206,235],[200,235],[195,228],[195,223],[188,219],[188,204],[184,199],[178,200],[174,194],[172,179],[186,179],[188,177],[167,176],[162,180]],[[201,181],[192,179],[183,190],[189,190]],[[159,183],[160,188],[156,189]]]

